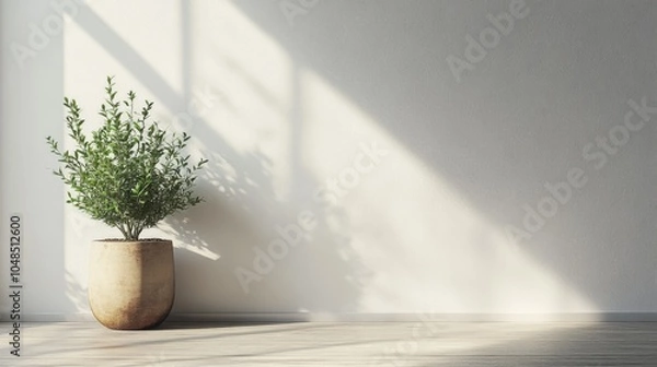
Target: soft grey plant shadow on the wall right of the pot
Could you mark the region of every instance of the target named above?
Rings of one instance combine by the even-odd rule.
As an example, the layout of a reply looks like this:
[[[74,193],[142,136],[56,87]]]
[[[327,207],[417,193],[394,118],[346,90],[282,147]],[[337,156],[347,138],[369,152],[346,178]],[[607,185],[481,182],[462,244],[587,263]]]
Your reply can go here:
[[[344,213],[280,200],[272,183],[275,163],[260,153],[224,159],[227,150],[203,153],[210,157],[198,176],[204,204],[162,226],[184,249],[176,252],[174,311],[353,311],[367,271],[350,248]]]

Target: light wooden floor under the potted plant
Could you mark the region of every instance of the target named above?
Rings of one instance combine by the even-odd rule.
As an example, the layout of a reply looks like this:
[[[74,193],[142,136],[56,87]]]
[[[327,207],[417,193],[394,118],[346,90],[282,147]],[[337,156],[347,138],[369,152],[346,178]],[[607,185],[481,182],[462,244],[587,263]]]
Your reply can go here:
[[[0,366],[657,366],[657,323],[24,323]]]

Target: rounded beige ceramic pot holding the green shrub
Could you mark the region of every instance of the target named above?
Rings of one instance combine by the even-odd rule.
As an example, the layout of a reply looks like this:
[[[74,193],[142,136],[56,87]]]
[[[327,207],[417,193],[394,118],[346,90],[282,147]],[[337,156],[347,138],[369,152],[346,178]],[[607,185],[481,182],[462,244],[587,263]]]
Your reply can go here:
[[[93,241],[89,304],[110,329],[150,329],[173,306],[173,245],[170,240]]]

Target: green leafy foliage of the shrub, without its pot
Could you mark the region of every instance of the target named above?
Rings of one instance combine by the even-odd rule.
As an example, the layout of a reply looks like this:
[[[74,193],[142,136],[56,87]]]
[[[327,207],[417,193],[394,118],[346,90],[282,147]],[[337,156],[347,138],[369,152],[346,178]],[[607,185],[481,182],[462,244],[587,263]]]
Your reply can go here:
[[[188,134],[169,133],[147,121],[152,102],[145,100],[138,111],[132,91],[118,100],[112,76],[105,93],[100,110],[104,123],[91,138],[83,133],[78,103],[65,97],[68,135],[76,147],[60,150],[51,137],[46,140],[61,164],[54,174],[69,187],[67,203],[118,228],[126,240],[138,240],[145,228],[203,201],[193,188],[208,161],[189,163],[184,154]]]

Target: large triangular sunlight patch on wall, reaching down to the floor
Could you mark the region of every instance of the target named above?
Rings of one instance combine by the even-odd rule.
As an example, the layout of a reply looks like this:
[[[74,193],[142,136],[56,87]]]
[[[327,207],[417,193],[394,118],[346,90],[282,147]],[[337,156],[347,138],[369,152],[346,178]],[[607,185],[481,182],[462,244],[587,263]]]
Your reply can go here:
[[[337,205],[370,276],[362,312],[592,311],[588,299],[508,241],[446,178],[321,76],[307,72],[303,162],[315,177],[348,167],[362,142],[389,154]],[[400,121],[403,125],[403,121]]]

